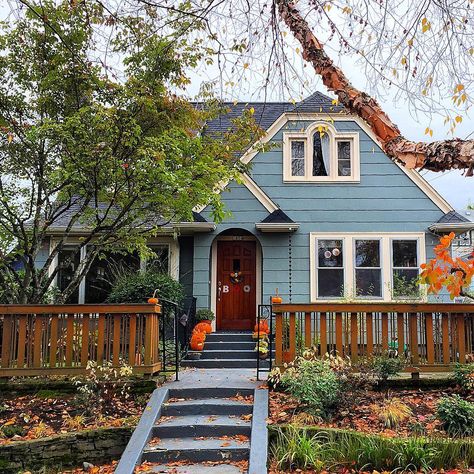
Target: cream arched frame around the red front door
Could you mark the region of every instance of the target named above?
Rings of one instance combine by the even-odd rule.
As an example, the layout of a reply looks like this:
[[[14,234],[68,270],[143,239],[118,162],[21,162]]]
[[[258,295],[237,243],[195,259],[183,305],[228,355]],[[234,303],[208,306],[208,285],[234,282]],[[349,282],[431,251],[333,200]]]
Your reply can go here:
[[[211,310],[217,314],[217,242],[247,240],[255,242],[255,315],[257,315],[258,306],[262,302],[262,247],[257,237],[252,235],[223,235],[217,236],[211,245]],[[212,321],[212,329],[215,331],[217,326],[217,317]]]

